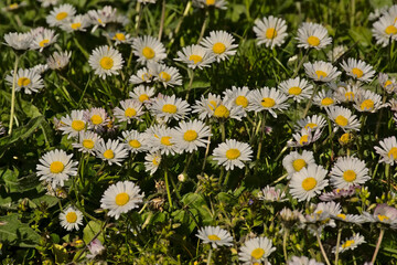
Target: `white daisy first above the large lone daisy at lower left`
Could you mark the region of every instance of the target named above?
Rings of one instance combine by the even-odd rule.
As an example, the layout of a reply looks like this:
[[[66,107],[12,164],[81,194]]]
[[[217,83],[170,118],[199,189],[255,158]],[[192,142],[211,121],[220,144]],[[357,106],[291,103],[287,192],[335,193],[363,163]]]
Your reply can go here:
[[[110,166],[116,163],[121,167],[120,162],[128,157],[128,150],[125,144],[111,139],[108,139],[107,142],[105,142],[104,139],[95,142],[95,152],[98,158],[107,161]]]

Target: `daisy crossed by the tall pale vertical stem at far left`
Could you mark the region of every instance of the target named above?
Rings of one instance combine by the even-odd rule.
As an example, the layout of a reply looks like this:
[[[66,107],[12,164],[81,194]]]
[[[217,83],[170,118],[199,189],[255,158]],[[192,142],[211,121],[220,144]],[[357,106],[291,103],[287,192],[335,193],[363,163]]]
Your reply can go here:
[[[6,76],[7,84],[12,87],[13,84],[13,71],[10,75]],[[37,93],[41,88],[44,87],[44,82],[37,72],[32,70],[19,68],[15,77],[15,92],[22,91],[30,95],[32,93]]]

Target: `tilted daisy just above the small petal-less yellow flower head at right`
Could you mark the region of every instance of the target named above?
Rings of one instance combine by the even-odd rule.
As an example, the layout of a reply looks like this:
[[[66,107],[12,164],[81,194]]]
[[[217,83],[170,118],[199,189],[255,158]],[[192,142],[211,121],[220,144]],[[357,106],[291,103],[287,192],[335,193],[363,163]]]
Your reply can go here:
[[[344,131],[346,130],[360,130],[360,121],[357,120],[357,116],[353,115],[348,108],[344,108],[341,106],[332,106],[325,109],[329,118],[336,125],[334,128],[342,128]]]

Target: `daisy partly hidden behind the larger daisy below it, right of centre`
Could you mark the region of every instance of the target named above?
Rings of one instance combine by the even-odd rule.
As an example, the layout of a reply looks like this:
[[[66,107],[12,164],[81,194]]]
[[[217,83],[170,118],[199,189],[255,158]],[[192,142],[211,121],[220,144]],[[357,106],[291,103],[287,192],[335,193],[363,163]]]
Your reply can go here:
[[[282,166],[287,170],[289,179],[293,173],[301,171],[310,165],[315,165],[312,151],[303,150],[302,153],[292,151],[282,159]]]

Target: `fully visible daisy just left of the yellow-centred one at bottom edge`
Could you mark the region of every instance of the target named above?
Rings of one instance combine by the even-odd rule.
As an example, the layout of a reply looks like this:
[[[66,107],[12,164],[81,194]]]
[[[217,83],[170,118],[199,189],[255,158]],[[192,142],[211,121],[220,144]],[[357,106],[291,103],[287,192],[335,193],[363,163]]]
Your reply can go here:
[[[204,226],[198,230],[196,236],[203,241],[204,244],[211,244],[213,248],[217,246],[233,245],[233,237],[229,232],[219,226]]]

